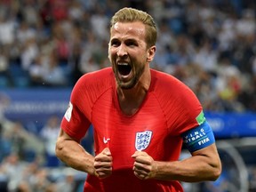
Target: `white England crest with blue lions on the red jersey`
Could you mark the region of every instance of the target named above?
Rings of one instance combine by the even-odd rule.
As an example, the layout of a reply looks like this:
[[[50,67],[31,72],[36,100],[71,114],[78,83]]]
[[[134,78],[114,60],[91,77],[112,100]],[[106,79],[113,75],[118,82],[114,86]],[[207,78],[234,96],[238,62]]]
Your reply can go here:
[[[151,137],[152,137],[151,131],[136,132],[135,148],[138,151],[148,148]]]

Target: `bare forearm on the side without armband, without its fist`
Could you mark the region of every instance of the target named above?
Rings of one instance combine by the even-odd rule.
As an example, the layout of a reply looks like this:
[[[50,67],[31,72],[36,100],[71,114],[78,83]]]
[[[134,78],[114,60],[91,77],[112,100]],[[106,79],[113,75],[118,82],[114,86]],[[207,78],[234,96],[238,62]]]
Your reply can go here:
[[[74,140],[57,140],[56,156],[68,166],[89,174],[94,174],[94,157]]]

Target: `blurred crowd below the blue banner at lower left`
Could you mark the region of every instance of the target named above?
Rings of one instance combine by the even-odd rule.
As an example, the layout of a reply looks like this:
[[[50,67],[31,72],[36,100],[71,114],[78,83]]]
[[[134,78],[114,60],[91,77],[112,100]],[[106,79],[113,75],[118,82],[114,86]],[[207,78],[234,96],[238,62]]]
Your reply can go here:
[[[4,104],[3,97],[1,104]],[[0,115],[1,192],[83,191],[86,173],[76,172],[55,156],[59,116],[49,116],[35,133],[29,132],[20,121]],[[92,153],[92,139],[87,137],[81,144]]]

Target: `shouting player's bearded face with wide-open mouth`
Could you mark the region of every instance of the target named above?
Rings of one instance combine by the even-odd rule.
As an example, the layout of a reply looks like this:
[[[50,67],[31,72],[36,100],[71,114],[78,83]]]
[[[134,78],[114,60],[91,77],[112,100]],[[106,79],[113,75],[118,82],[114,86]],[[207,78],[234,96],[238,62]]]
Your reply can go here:
[[[117,22],[111,28],[108,58],[122,89],[138,83],[148,62],[146,28],[141,22]]]

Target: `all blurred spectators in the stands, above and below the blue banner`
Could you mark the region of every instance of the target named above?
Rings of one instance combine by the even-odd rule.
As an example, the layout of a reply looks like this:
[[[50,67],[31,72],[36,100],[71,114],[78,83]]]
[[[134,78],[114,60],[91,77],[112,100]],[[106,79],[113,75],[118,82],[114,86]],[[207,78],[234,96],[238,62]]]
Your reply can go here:
[[[155,18],[152,68],[188,84],[204,110],[256,112],[253,0],[1,0],[1,89],[72,87],[83,74],[110,66],[109,20],[124,6]],[[78,188],[70,172],[59,182],[49,178],[49,167],[65,167],[54,156],[60,119],[51,116],[39,135],[1,116],[0,123],[0,189]]]

